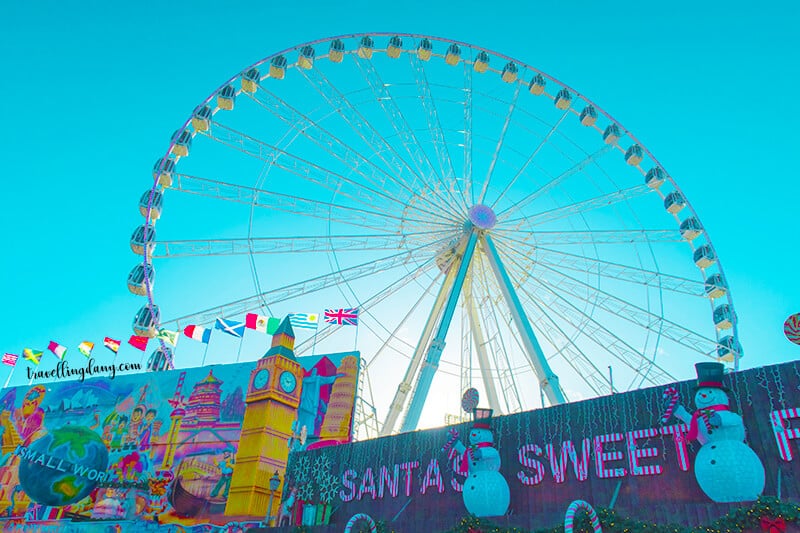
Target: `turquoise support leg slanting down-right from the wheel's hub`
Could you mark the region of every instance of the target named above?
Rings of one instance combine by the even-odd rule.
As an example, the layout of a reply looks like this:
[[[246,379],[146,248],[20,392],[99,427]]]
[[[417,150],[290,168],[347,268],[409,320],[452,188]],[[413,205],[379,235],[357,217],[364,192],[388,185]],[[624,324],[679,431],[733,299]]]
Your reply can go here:
[[[528,316],[525,314],[525,310],[522,308],[522,304],[519,301],[517,291],[514,290],[514,285],[511,283],[511,278],[508,277],[508,273],[503,266],[503,262],[500,260],[500,256],[497,254],[497,248],[494,246],[494,241],[492,241],[492,238],[486,234],[482,236],[482,239],[483,249],[486,251],[486,255],[489,258],[489,264],[491,265],[492,271],[494,272],[497,282],[500,285],[500,291],[503,293],[506,304],[511,310],[511,316],[514,319],[514,323],[517,325],[517,329],[519,330],[519,334],[522,339],[522,345],[525,348],[525,354],[528,356],[528,360],[530,361],[531,365],[536,371],[537,377],[539,378],[541,390],[544,391],[544,394],[547,396],[547,399],[550,401],[551,405],[566,403],[564,393],[561,392],[561,387],[558,384],[558,376],[553,373],[553,371],[550,369],[550,365],[547,363],[547,358],[544,356],[542,347],[539,345],[539,341],[536,339],[536,335],[533,333],[533,328],[528,320]]]

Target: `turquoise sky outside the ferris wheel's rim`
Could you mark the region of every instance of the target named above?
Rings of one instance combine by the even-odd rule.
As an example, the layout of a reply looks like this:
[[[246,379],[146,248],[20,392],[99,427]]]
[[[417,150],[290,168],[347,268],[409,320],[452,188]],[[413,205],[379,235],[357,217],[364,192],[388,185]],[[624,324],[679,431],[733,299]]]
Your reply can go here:
[[[610,112],[675,177],[707,228],[733,291],[743,366],[796,359],[800,346],[782,324],[800,312],[800,8],[660,5],[7,3],[0,348],[56,340],[79,362],[82,340],[127,339],[141,305],[125,287],[137,260],[128,239],[172,132],[264,56],[331,35],[398,31],[519,58]],[[120,357],[140,352],[124,346]]]

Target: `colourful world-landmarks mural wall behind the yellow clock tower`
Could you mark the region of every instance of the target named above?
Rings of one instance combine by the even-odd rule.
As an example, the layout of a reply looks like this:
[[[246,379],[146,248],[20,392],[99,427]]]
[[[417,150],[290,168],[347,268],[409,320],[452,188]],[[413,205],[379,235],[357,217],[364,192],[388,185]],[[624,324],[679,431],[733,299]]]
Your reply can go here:
[[[291,413],[297,431],[280,445],[288,454],[290,447],[348,442],[358,352],[297,362],[303,375]],[[243,420],[267,403],[248,401],[256,364],[2,389],[3,530],[23,523],[65,530],[75,520],[84,521],[82,531],[103,523],[124,531],[128,526],[120,524],[143,521],[257,523],[259,517],[226,510]]]

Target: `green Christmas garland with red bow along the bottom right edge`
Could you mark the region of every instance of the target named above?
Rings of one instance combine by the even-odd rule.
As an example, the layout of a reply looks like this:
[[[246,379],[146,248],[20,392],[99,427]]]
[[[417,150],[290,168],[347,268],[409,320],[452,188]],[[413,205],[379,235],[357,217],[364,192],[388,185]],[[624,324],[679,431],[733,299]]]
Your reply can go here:
[[[741,533],[756,529],[766,533],[783,533],[785,525],[800,524],[800,505],[762,497],[750,507],[740,507],[730,511],[710,524],[687,527],[677,524],[656,524],[621,516],[613,509],[597,509],[600,524],[605,533]],[[591,523],[586,515],[575,519],[576,533],[592,533]],[[447,533],[564,533],[564,526],[528,530],[518,527],[503,527],[491,521],[474,516],[465,517]]]

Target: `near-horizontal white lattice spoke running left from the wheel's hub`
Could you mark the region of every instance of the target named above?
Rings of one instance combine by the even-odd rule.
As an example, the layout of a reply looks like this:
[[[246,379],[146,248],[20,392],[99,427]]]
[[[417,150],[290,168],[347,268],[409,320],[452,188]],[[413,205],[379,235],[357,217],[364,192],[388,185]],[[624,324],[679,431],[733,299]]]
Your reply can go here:
[[[291,237],[252,237],[241,239],[194,239],[156,241],[153,259],[205,255],[330,253],[334,250],[367,251],[404,248],[441,237],[443,231],[406,234],[320,235]],[[421,239],[417,241],[417,238]]]

